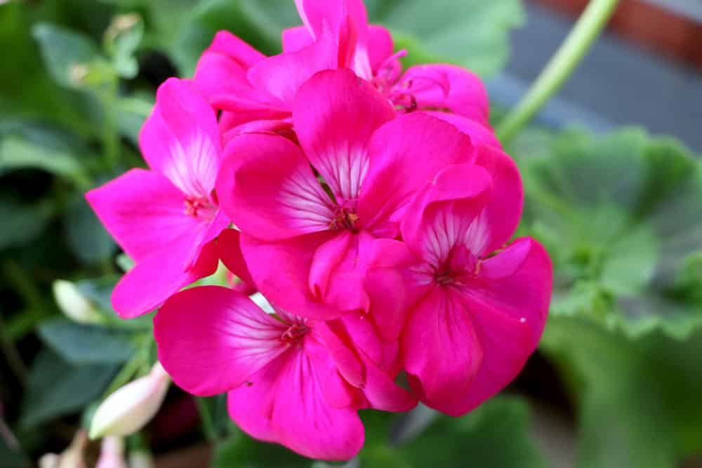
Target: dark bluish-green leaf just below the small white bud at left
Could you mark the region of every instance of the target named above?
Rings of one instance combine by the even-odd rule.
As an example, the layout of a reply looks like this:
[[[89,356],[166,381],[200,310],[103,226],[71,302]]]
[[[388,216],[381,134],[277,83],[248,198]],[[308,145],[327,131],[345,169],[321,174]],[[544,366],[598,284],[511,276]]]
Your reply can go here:
[[[104,326],[87,326],[51,319],[41,323],[39,337],[62,359],[74,366],[122,363],[136,351],[130,333]]]

